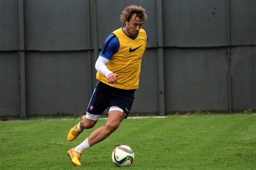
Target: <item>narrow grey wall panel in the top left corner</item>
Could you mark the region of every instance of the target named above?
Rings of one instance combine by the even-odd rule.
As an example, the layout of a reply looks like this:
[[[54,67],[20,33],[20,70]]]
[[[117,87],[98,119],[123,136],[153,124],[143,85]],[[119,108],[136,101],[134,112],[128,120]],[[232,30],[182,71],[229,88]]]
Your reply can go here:
[[[0,1],[0,49],[17,50],[19,38],[18,1]]]

